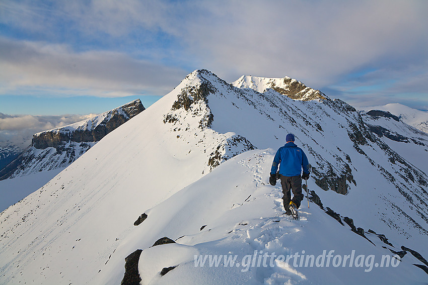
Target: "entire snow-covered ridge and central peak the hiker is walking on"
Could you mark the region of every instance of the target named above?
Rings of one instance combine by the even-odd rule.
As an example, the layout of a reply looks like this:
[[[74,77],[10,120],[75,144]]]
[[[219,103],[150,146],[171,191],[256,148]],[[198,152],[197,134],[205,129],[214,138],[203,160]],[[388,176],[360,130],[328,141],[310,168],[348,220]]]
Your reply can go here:
[[[237,254],[240,261],[255,251],[355,250],[379,262],[405,246],[428,256],[423,171],[340,100],[293,100],[270,84],[253,86],[263,93],[247,87],[192,72],[2,212],[1,283],[118,284],[124,258],[136,249],[142,249],[142,284],[426,282],[428,275],[413,265],[422,262],[410,253],[397,267],[373,270],[295,266],[280,258],[248,270],[243,264],[195,267],[195,253]],[[282,215],[280,185],[267,182],[289,132],[313,165],[308,182],[317,196],[311,197],[324,205],[308,209],[305,200],[299,221]],[[133,226],[142,213],[147,219]],[[151,247],[164,236],[178,244]]]

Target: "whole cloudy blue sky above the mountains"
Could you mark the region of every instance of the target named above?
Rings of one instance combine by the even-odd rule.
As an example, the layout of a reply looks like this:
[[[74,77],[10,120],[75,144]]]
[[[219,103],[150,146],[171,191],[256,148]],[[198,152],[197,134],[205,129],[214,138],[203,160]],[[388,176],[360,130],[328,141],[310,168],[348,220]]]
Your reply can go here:
[[[0,112],[150,106],[195,69],[428,110],[428,1],[1,0]]]

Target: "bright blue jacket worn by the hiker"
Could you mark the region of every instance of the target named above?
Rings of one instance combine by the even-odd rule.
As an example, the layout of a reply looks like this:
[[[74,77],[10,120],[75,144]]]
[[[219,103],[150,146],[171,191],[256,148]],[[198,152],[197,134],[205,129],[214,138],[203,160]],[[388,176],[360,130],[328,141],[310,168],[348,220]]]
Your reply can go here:
[[[281,146],[273,158],[270,173],[276,173],[279,164],[279,174],[284,176],[297,176],[303,172],[309,173],[309,161],[306,154],[294,142]]]

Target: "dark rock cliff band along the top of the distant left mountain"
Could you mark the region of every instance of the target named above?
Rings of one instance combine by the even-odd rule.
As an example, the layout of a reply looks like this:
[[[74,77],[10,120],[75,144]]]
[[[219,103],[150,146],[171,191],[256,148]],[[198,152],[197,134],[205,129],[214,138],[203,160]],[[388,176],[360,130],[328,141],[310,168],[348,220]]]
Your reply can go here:
[[[145,108],[142,106],[141,101],[135,100],[126,105],[123,105],[117,109],[109,111],[108,116],[95,128],[91,126],[79,127],[74,131],[61,131],[61,129],[55,129],[52,131],[46,131],[33,136],[32,146],[38,149],[45,149],[47,147],[54,147],[58,150],[58,147],[64,145],[66,142],[97,142],[105,137],[108,133],[134,117],[138,115]],[[89,121],[94,124],[94,122]]]

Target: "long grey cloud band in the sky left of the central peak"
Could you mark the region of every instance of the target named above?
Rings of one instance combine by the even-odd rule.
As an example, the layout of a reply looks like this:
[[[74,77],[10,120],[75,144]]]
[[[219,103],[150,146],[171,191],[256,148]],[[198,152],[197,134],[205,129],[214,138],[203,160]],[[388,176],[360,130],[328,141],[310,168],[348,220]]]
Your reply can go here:
[[[45,87],[56,88],[60,95],[164,95],[186,75],[180,68],[137,60],[120,52],[77,53],[66,45],[7,38],[0,38],[0,66],[2,93],[20,87]]]

